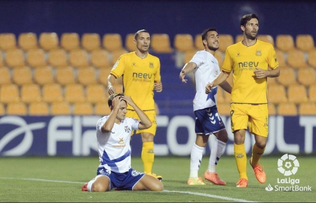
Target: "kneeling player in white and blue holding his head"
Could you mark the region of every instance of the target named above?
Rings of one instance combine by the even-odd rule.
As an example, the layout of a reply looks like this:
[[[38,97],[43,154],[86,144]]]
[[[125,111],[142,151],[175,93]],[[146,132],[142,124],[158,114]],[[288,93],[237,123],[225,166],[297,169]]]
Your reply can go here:
[[[125,117],[127,103],[135,109],[140,121]],[[108,104],[111,114],[98,120],[96,126],[100,158],[97,176],[85,183],[82,191],[163,190],[161,181],[131,168],[131,132],[149,128],[151,121],[131,97],[123,93],[112,94]]]

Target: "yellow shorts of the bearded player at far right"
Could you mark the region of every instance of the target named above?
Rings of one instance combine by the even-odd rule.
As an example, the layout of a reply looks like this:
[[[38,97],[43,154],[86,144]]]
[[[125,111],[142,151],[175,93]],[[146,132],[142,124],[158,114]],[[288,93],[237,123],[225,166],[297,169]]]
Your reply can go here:
[[[236,104],[230,105],[232,132],[247,129],[252,134],[268,137],[268,104]]]

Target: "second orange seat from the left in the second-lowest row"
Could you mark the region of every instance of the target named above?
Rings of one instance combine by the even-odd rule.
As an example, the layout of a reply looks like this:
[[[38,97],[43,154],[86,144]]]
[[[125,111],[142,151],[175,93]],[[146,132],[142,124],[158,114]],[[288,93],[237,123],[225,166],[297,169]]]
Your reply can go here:
[[[21,87],[21,101],[25,103],[40,102],[41,93],[38,84],[25,84]]]

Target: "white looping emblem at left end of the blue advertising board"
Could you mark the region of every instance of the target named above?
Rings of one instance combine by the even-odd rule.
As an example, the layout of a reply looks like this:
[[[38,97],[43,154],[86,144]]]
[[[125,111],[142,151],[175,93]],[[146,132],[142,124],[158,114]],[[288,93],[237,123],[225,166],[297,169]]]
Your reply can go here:
[[[19,116],[4,116],[0,119],[0,125],[1,124],[11,124],[18,127],[11,132],[8,132],[0,139],[0,153],[11,140],[19,136],[21,133],[25,134],[19,145],[13,149],[1,153],[5,156],[20,156],[26,153],[31,148],[33,143],[32,130],[41,129],[46,126],[45,122],[37,122],[27,125],[25,120]]]

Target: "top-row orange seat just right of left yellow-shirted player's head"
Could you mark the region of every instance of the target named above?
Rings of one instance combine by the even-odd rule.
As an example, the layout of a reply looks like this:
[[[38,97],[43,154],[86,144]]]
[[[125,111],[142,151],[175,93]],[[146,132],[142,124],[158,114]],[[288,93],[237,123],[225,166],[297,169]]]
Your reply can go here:
[[[157,53],[171,53],[173,51],[168,34],[152,34],[150,43],[151,48]]]

